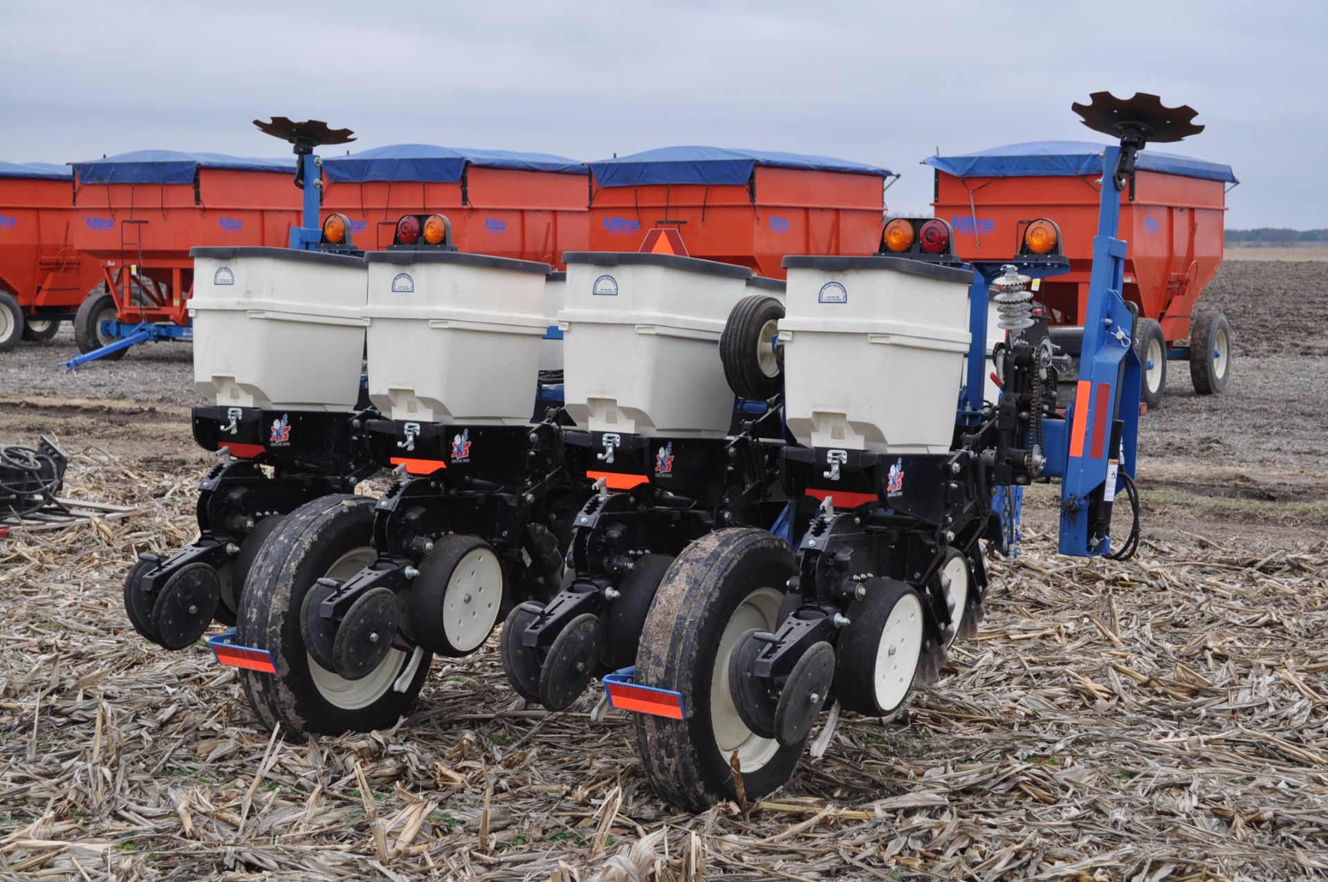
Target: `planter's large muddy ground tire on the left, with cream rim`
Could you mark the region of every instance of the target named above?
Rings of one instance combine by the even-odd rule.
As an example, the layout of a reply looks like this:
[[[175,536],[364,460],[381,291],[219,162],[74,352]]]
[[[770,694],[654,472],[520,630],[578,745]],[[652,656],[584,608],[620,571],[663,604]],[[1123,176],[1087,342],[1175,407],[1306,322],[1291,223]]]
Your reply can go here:
[[[270,728],[280,723],[293,737],[369,732],[396,725],[410,712],[429,673],[425,651],[404,692],[393,681],[410,652],[393,650],[363,680],[344,680],[311,665],[300,636],[300,607],[315,580],[349,578],[373,559],[374,502],[369,497],[327,495],[283,518],[263,543],[240,594],[236,642],[267,650],[276,673],[240,671],[244,695]],[[336,696],[333,701],[329,695]]]

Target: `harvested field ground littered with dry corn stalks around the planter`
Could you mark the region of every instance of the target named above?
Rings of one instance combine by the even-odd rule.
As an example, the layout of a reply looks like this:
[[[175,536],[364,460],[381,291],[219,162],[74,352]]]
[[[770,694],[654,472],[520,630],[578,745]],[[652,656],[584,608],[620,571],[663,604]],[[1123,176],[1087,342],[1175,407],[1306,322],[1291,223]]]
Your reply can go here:
[[[1297,255],[1299,256],[1299,255]],[[1291,879],[1328,874],[1328,263],[1228,260],[1227,392],[1173,363],[1143,542],[1054,554],[1054,487],[987,618],[899,719],[841,723],[784,790],[692,817],[620,715],[548,715],[493,642],[390,732],[274,740],[203,646],[138,638],[121,580],[194,534],[187,344],[74,375],[0,356],[0,444],[50,434],[127,522],[0,545],[0,878]]]

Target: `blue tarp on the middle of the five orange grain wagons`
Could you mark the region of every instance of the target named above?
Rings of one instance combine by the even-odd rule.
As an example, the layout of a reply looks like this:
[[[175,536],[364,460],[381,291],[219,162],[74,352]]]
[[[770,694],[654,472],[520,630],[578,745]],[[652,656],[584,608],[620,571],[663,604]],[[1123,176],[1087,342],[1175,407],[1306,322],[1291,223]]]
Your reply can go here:
[[[348,157],[325,157],[323,170],[332,182],[429,181],[456,183],[466,166],[586,174],[586,165],[551,153],[436,147],[430,143],[394,143]]]

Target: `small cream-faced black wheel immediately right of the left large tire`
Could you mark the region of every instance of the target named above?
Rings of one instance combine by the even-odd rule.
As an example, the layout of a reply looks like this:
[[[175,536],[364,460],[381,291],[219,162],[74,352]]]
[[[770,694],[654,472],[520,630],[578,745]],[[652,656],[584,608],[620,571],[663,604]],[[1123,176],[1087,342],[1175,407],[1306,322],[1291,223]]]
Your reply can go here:
[[[498,554],[473,535],[445,535],[410,583],[410,634],[430,652],[469,655],[493,634],[502,612]]]

